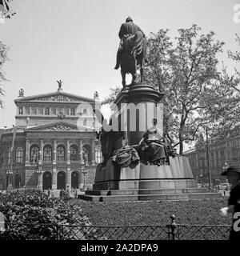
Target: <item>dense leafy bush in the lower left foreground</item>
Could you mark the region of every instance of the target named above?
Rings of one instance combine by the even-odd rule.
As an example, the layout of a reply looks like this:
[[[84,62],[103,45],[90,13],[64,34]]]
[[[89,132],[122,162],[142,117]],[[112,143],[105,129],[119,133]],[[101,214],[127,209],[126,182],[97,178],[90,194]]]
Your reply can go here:
[[[9,227],[0,236],[2,239],[55,239],[59,224],[65,225],[62,233],[67,233],[70,225],[91,225],[80,206],[70,205],[61,198],[48,198],[40,190],[4,194],[0,212],[5,215],[6,226]],[[82,238],[94,236],[86,233]]]

